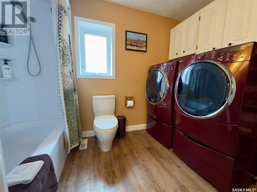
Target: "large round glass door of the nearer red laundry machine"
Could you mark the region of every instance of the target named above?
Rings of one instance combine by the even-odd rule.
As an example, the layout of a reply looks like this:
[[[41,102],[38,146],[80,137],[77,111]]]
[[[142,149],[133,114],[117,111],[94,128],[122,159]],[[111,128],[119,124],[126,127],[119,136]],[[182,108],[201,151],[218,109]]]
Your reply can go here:
[[[235,80],[229,69],[212,61],[185,68],[176,81],[175,98],[187,115],[205,119],[221,113],[232,102]]]

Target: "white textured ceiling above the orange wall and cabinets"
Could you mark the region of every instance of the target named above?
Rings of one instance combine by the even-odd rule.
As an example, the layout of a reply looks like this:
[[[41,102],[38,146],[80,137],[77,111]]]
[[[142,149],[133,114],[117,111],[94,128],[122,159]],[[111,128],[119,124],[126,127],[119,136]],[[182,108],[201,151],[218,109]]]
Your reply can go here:
[[[105,0],[158,15],[185,20],[213,0]]]

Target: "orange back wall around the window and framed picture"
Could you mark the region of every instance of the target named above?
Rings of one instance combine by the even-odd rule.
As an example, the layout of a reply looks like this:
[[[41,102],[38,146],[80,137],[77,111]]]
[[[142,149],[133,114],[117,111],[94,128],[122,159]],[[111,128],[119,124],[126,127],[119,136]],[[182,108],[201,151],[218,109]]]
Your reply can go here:
[[[79,16],[116,24],[116,79],[77,79],[82,131],[93,130],[92,95],[116,95],[115,115],[125,115],[126,125],[146,123],[148,67],[168,60],[170,29],[180,21],[102,0],[70,0],[70,6],[72,22]],[[125,30],[148,34],[146,53],[125,50]],[[125,108],[125,95],[134,96],[134,108]]]

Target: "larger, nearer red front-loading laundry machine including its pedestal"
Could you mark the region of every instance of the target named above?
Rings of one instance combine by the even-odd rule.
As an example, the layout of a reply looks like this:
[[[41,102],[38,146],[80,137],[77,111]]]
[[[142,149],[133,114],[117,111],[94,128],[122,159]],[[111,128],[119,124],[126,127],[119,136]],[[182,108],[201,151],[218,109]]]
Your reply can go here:
[[[257,44],[179,61],[173,152],[221,191],[257,175]]]

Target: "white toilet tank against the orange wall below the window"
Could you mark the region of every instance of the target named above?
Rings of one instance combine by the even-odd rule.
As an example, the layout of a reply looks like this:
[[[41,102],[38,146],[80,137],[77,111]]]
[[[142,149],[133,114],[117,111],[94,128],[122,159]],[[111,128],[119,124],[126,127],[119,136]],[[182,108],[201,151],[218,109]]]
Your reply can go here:
[[[93,95],[95,115],[113,115],[115,112],[115,95]]]

